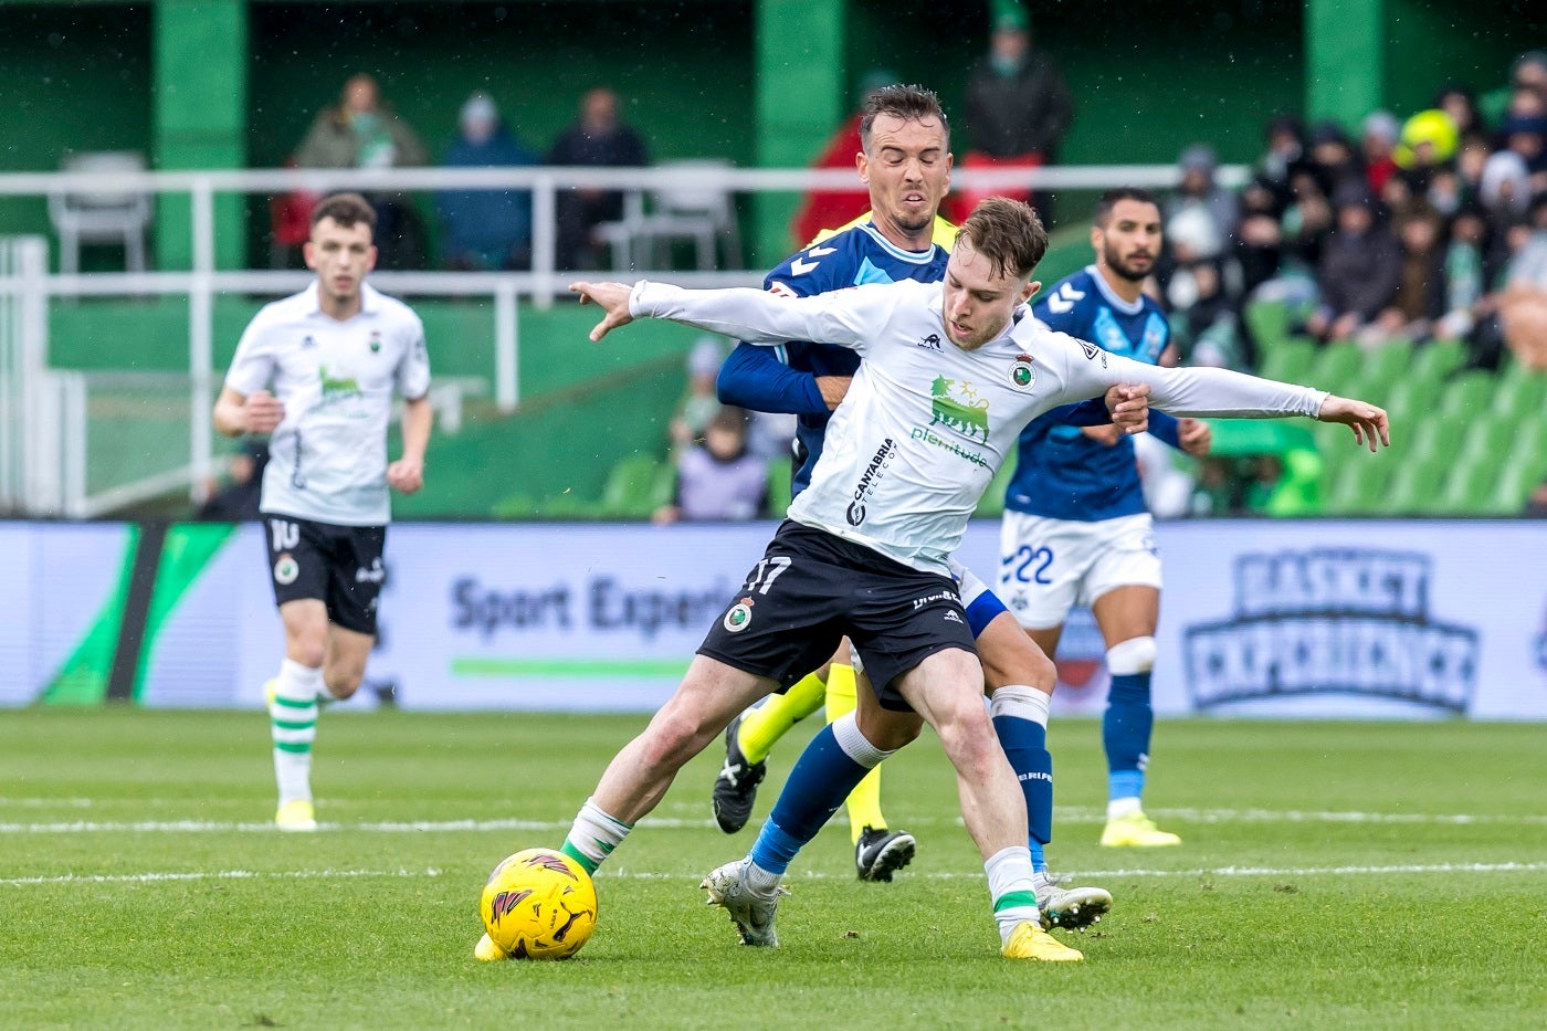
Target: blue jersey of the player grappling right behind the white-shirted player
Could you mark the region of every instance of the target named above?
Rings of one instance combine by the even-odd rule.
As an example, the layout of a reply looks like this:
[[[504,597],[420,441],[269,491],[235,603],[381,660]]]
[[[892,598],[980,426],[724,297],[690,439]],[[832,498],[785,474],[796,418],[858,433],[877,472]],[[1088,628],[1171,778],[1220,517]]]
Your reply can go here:
[[[927,251],[903,251],[866,221],[797,252],[769,272],[763,285],[777,294],[809,297],[860,283],[896,283],[905,279],[936,283],[945,279],[948,260],[950,252],[937,245],[930,245]],[[852,376],[860,367],[859,355],[831,344],[792,342],[778,347],[777,353],[791,368],[814,376]],[[794,494],[811,483],[811,471],[821,455],[828,418],[828,412],[798,416],[795,440],[801,463],[791,485]]]

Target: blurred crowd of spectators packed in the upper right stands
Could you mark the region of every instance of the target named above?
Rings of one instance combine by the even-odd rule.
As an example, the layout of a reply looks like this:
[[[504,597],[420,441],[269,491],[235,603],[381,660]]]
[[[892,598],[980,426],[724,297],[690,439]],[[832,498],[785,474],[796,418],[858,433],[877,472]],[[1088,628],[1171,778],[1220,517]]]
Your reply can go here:
[[[1547,53],[1502,90],[1443,84],[1357,133],[1272,118],[1241,190],[1205,144],[1179,166],[1157,288],[1188,361],[1252,367],[1242,311],[1269,300],[1329,345],[1462,339],[1476,367],[1547,368]]]

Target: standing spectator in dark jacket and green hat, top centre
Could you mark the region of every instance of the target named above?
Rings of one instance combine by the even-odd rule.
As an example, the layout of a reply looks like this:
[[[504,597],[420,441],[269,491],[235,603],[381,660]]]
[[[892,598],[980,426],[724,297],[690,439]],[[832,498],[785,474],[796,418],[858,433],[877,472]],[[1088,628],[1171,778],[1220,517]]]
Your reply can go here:
[[[1032,19],[1019,0],[993,0],[989,56],[967,77],[967,132],[972,149],[964,169],[1035,169],[1058,161],[1058,147],[1074,124],[1074,102],[1063,73],[1032,45]],[[1030,180],[1030,173],[1027,173]],[[990,194],[1030,200],[1026,190],[973,190],[956,195],[959,223]],[[1036,209],[1052,226],[1050,198],[1038,195]]]

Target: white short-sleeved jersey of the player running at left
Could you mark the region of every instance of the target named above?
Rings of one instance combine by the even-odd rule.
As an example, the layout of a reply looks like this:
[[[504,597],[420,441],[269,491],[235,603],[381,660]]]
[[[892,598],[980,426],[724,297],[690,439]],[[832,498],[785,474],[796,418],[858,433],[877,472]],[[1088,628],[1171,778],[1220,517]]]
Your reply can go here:
[[[342,526],[391,520],[387,423],[393,390],[430,389],[424,325],[408,305],[360,285],[347,322],[322,313],[317,285],[265,305],[248,324],[226,385],[285,404],[263,471],[265,512]]]

